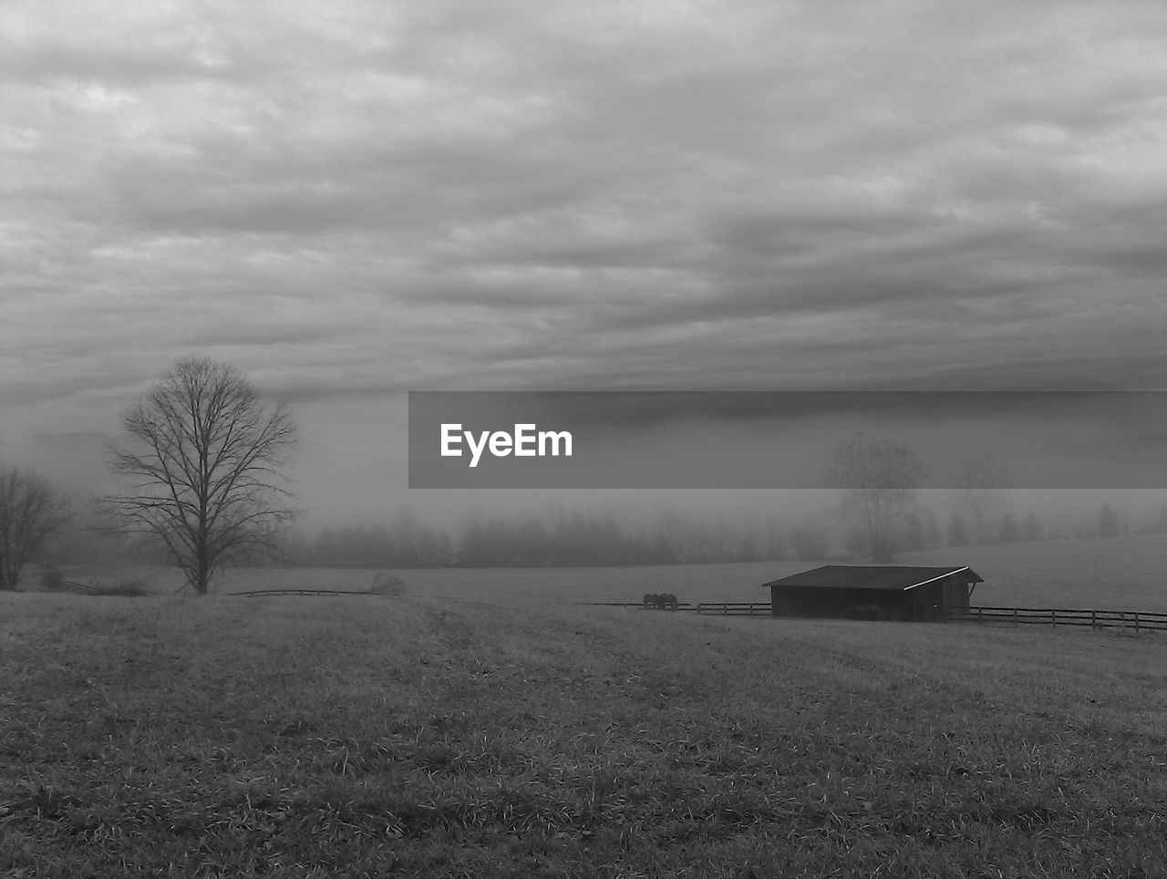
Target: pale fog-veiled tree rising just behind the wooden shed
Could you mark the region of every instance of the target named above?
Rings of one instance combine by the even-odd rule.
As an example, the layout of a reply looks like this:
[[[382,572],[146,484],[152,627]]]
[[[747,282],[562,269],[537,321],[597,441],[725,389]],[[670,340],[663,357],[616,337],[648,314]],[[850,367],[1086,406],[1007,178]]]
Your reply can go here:
[[[844,517],[858,521],[873,561],[892,560],[927,475],[928,467],[903,442],[857,433],[832,449],[826,477],[844,489]]]

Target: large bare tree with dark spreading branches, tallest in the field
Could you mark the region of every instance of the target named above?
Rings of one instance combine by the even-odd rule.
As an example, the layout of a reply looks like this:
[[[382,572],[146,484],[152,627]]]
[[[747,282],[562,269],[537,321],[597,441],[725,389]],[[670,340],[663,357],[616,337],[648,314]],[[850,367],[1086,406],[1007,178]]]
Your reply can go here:
[[[223,565],[274,549],[295,515],[285,455],[299,431],[239,370],[180,361],[123,426],[135,448],[111,447],[110,466],[126,490],[99,501],[118,530],[160,539],[201,595]]]

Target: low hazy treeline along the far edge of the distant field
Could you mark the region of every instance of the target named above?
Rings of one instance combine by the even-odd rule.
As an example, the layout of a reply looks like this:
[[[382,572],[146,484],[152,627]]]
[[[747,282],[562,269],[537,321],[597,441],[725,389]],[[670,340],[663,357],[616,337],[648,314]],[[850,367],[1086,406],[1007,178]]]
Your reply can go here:
[[[1092,521],[1065,531],[1047,529],[1033,512],[1005,512],[979,528],[951,512],[942,525],[924,509],[904,519],[894,550],[1148,532],[1167,533],[1167,508],[1135,525],[1105,504]],[[574,567],[852,560],[862,558],[867,545],[860,531],[840,528],[823,509],[785,522],[672,514],[647,525],[601,512],[496,516],[470,521],[457,533],[400,516],[389,525],[328,528],[315,537],[292,532],[280,550],[284,564],[306,567]]]

